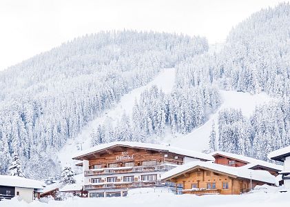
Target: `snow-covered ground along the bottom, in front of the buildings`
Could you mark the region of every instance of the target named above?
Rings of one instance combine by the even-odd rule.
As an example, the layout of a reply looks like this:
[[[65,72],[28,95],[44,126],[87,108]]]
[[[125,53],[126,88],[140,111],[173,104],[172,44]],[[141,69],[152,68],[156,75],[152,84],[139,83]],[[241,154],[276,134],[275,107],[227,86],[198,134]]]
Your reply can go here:
[[[174,195],[172,193],[140,193],[129,195],[128,197],[111,197],[111,198],[79,198],[73,197],[65,201],[49,201],[48,204],[39,201],[33,201],[26,204],[24,201],[19,202],[17,199],[10,201],[0,201],[1,207],[76,207],[76,206],[106,206],[106,207],[185,207],[185,206],[216,206],[216,207],[245,207],[245,206],[279,206],[288,207],[290,204],[290,193],[268,192],[258,190],[258,193],[245,195]]]

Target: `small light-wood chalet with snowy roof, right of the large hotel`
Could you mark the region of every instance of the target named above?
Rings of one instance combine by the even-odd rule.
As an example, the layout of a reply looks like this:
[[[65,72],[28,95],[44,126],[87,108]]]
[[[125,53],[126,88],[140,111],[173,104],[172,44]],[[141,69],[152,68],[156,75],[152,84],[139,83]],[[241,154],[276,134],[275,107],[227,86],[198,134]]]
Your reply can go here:
[[[183,186],[185,194],[238,195],[256,185],[276,183],[276,177],[265,170],[233,168],[211,162],[192,161],[161,175],[161,181]]]

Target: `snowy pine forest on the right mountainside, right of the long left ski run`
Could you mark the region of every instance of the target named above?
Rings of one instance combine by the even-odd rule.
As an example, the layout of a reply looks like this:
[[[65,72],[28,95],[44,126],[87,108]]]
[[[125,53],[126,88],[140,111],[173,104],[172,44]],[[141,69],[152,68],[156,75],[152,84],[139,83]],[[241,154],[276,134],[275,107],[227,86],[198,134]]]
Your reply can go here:
[[[258,106],[249,119],[240,110],[221,111],[214,123],[218,131],[213,127],[209,143],[209,150],[267,160],[269,152],[290,144],[289,22],[289,3],[251,15],[229,33],[218,54],[205,52],[176,64],[176,86],[170,95],[152,88],[136,101],[131,122],[123,115],[114,129],[96,126],[92,145],[110,137],[145,141],[152,134],[163,136],[166,127],[173,133],[191,132],[220,105],[217,88],[267,92],[276,101]]]

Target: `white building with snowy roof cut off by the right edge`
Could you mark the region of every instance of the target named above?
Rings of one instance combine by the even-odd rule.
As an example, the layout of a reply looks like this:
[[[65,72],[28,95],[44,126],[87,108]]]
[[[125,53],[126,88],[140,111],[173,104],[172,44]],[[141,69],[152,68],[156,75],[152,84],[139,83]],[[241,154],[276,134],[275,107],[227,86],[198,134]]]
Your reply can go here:
[[[269,159],[284,162],[284,170],[279,172],[284,180],[284,186],[290,190],[290,146],[270,152]]]

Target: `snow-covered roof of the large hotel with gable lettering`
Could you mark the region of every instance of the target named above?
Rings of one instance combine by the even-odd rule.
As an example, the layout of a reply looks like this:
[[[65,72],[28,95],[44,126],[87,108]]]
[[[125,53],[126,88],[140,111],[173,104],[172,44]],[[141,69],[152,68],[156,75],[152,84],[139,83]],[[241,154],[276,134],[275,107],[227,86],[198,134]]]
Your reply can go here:
[[[214,161],[214,157],[212,157],[211,155],[202,153],[202,152],[185,150],[182,148],[176,148],[172,146],[163,146],[159,144],[149,144],[149,143],[141,143],[141,142],[134,142],[134,141],[114,141],[107,144],[100,144],[98,146],[94,146],[92,148],[89,148],[87,150],[83,150],[77,153],[76,155],[74,155],[72,159],[82,159],[82,157],[86,155],[90,155],[94,152],[99,152],[107,148],[112,148],[114,146],[124,146],[124,147],[129,147],[129,148],[145,148],[145,149],[150,149],[150,150],[162,150],[162,151],[176,153],[178,155],[185,155],[186,157],[194,157],[198,159]]]

